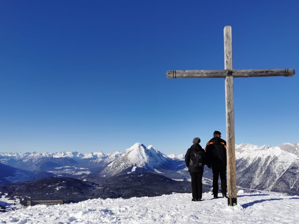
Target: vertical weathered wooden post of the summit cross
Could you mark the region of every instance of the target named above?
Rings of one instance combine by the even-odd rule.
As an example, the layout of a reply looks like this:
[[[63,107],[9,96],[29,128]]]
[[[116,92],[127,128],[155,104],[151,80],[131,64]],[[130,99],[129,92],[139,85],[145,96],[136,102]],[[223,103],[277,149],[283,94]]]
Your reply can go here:
[[[224,67],[233,69],[231,26],[224,27]],[[228,205],[237,205],[236,157],[235,157],[235,119],[234,119],[234,83],[228,72],[225,77],[226,147]]]

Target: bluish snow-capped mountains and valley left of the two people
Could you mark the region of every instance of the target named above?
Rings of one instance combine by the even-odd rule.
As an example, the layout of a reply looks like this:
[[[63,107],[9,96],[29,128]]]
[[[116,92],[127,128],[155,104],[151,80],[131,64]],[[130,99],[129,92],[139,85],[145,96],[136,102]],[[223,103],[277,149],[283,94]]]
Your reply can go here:
[[[162,174],[171,179],[186,180],[190,175],[183,159],[183,154],[179,156],[172,154],[168,157],[156,150],[154,146],[145,147],[141,143],[135,143],[124,153],[0,153],[2,164],[35,173],[43,171],[57,177],[78,177],[89,174],[105,177],[149,172]],[[28,177],[28,180],[32,178]]]

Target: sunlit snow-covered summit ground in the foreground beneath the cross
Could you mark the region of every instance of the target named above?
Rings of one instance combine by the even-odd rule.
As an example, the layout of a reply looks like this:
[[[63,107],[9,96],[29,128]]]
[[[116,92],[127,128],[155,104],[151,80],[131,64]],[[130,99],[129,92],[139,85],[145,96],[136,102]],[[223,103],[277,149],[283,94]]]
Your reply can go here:
[[[238,205],[226,198],[191,202],[191,194],[130,199],[93,199],[75,204],[35,205],[0,214],[2,223],[299,223],[299,197],[238,192]]]

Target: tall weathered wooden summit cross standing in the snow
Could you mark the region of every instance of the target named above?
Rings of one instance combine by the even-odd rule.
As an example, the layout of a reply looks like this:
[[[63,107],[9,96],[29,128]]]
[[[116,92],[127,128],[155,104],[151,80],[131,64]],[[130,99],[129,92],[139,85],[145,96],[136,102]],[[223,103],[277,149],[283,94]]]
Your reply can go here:
[[[170,70],[167,78],[225,78],[225,113],[227,139],[227,182],[228,205],[237,205],[235,121],[233,77],[286,76],[295,74],[294,69],[252,69],[233,70],[231,26],[224,27],[224,69],[225,70]]]

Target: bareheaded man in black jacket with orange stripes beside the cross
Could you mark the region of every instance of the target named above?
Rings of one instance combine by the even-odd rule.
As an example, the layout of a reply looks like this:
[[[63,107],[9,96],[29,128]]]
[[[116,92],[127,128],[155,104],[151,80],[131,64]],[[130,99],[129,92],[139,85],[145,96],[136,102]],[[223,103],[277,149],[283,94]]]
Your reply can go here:
[[[218,178],[221,180],[221,193],[226,194],[226,142],[221,139],[221,133],[214,131],[213,138],[207,143],[205,148],[207,166],[213,171],[213,195],[218,198]]]

